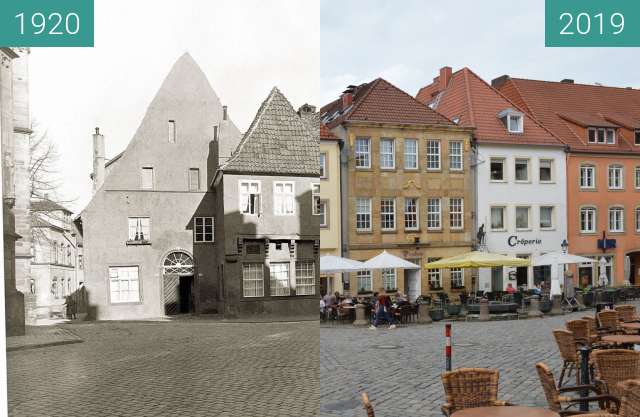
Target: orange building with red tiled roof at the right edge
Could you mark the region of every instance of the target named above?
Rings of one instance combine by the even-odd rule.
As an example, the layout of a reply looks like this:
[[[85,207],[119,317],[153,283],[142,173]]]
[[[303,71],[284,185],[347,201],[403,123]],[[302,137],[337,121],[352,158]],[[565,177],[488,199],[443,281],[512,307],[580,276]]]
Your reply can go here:
[[[640,90],[528,80],[493,80],[568,146],[569,252],[600,260],[609,284],[640,283]],[[599,268],[574,268],[580,285]]]

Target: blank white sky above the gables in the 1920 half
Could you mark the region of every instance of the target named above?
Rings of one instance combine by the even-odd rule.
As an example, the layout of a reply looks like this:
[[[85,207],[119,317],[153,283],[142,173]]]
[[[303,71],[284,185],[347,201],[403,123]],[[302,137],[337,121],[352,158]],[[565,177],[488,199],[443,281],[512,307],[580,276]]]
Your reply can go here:
[[[94,48],[33,48],[31,112],[57,143],[64,199],[91,198],[91,134],[122,151],[173,63],[188,51],[244,131],[277,85],[294,107],[320,99],[318,0],[96,0]]]

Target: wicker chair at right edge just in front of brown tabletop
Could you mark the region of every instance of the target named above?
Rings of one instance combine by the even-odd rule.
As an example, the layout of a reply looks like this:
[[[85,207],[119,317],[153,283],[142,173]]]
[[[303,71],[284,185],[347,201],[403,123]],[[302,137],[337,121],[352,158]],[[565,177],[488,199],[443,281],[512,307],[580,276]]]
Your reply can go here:
[[[596,385],[617,398],[622,397],[619,382],[640,378],[640,352],[627,349],[603,349],[591,354],[596,370]]]

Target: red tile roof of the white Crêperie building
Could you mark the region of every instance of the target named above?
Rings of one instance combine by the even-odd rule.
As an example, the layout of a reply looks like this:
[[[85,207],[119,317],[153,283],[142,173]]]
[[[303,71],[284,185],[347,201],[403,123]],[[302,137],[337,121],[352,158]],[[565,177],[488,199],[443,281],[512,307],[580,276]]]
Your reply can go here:
[[[418,97],[423,100],[428,98],[435,110],[450,119],[459,119],[461,126],[474,127],[474,137],[478,142],[564,146],[562,141],[522,111],[516,103],[504,97],[469,68],[456,71],[444,91],[434,90],[436,84],[437,80],[420,89]],[[523,133],[510,133],[498,118],[498,114],[506,109],[524,113]]]

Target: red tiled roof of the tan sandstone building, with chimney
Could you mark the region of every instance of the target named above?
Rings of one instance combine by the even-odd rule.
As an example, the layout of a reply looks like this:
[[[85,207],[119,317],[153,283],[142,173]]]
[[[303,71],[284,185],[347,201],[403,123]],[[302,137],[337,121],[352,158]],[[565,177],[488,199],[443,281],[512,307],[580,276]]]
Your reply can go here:
[[[342,99],[338,99],[324,106],[320,113],[329,128],[342,122],[455,126],[382,78],[357,87],[353,103],[347,109],[342,109]]]

